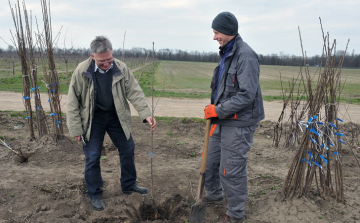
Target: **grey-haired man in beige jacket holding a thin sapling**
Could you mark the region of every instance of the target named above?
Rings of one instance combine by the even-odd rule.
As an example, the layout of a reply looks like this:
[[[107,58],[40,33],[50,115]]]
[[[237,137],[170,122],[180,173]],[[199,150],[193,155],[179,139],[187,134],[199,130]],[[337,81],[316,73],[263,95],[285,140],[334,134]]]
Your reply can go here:
[[[90,47],[90,58],[78,65],[71,78],[66,116],[70,136],[83,142],[87,194],[93,208],[100,211],[105,208],[100,199],[103,193],[100,156],[105,132],[119,151],[123,193],[146,194],[146,188],[135,184],[135,144],[127,100],[152,130],[156,121],[131,71],[123,62],[113,58],[110,40],[97,36]]]

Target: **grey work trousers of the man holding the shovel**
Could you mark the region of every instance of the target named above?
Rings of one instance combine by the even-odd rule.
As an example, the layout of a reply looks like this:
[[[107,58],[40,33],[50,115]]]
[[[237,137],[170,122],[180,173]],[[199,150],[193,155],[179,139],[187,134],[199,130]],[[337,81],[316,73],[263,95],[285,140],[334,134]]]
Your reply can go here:
[[[222,188],[229,202],[226,214],[244,217],[248,196],[246,161],[257,124],[247,127],[217,125],[209,139],[205,188],[209,200],[221,198]]]

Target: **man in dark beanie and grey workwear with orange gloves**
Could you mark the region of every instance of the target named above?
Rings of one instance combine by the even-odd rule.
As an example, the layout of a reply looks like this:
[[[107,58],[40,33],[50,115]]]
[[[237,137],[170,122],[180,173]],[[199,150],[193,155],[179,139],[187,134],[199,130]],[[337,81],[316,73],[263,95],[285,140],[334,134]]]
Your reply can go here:
[[[204,109],[212,119],[205,175],[208,203],[229,205],[221,222],[244,222],[247,200],[247,152],[257,123],[264,119],[257,54],[238,34],[238,21],[222,12],[212,22],[214,40],[220,44],[221,61],[211,82],[211,104]]]

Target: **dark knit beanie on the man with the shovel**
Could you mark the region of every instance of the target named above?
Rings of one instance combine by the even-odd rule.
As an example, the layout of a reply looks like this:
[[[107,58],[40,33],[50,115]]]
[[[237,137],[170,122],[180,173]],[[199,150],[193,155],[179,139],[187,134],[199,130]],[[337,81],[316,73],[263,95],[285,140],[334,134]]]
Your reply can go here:
[[[238,34],[238,23],[236,17],[230,12],[222,12],[215,17],[211,28],[229,36]]]

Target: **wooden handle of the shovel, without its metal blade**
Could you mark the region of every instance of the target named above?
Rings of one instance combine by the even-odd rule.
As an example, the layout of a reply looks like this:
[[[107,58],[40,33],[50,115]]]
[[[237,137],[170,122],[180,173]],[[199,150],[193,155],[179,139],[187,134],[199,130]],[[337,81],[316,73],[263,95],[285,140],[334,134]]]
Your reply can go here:
[[[197,195],[196,195],[196,202],[199,202],[201,200],[203,190],[204,190],[206,161],[207,161],[207,153],[208,153],[208,148],[209,148],[210,128],[211,128],[211,119],[207,119],[205,136],[204,136],[203,155],[202,155],[201,167],[200,167],[200,179],[199,179],[198,191],[197,191]]]

